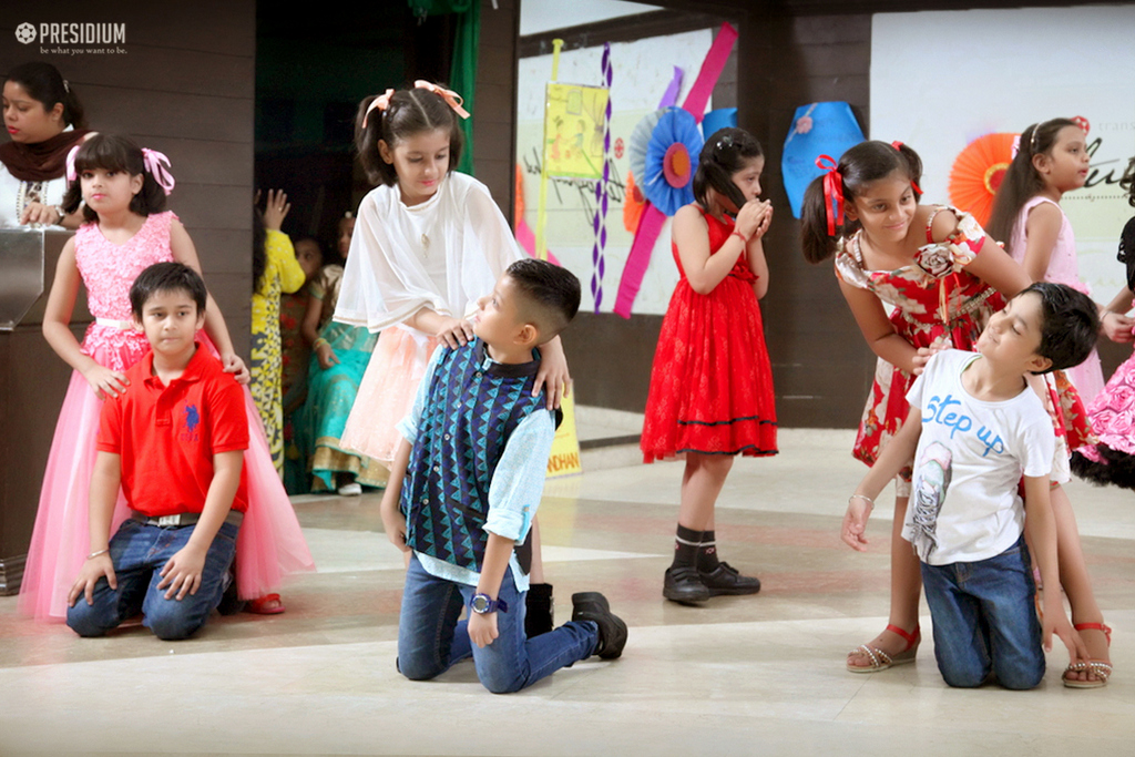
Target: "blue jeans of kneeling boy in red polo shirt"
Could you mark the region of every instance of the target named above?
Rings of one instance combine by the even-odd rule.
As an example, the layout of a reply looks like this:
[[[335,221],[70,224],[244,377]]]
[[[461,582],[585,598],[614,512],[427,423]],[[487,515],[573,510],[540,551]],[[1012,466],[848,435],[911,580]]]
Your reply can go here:
[[[233,523],[221,524],[205,554],[196,594],[187,594],[180,600],[166,599],[168,587],[158,588],[161,569],[188,544],[194,528],[162,528],[135,520],[123,523],[110,539],[110,560],[115,564],[118,588],[111,589],[107,579],[99,579],[94,604],[86,604],[86,598],[81,596],[67,611],[67,625],[82,637],[106,636],[141,611],[142,624],[159,639],[174,641],[193,636],[220,604],[225,574],[233,564],[239,530]]]

